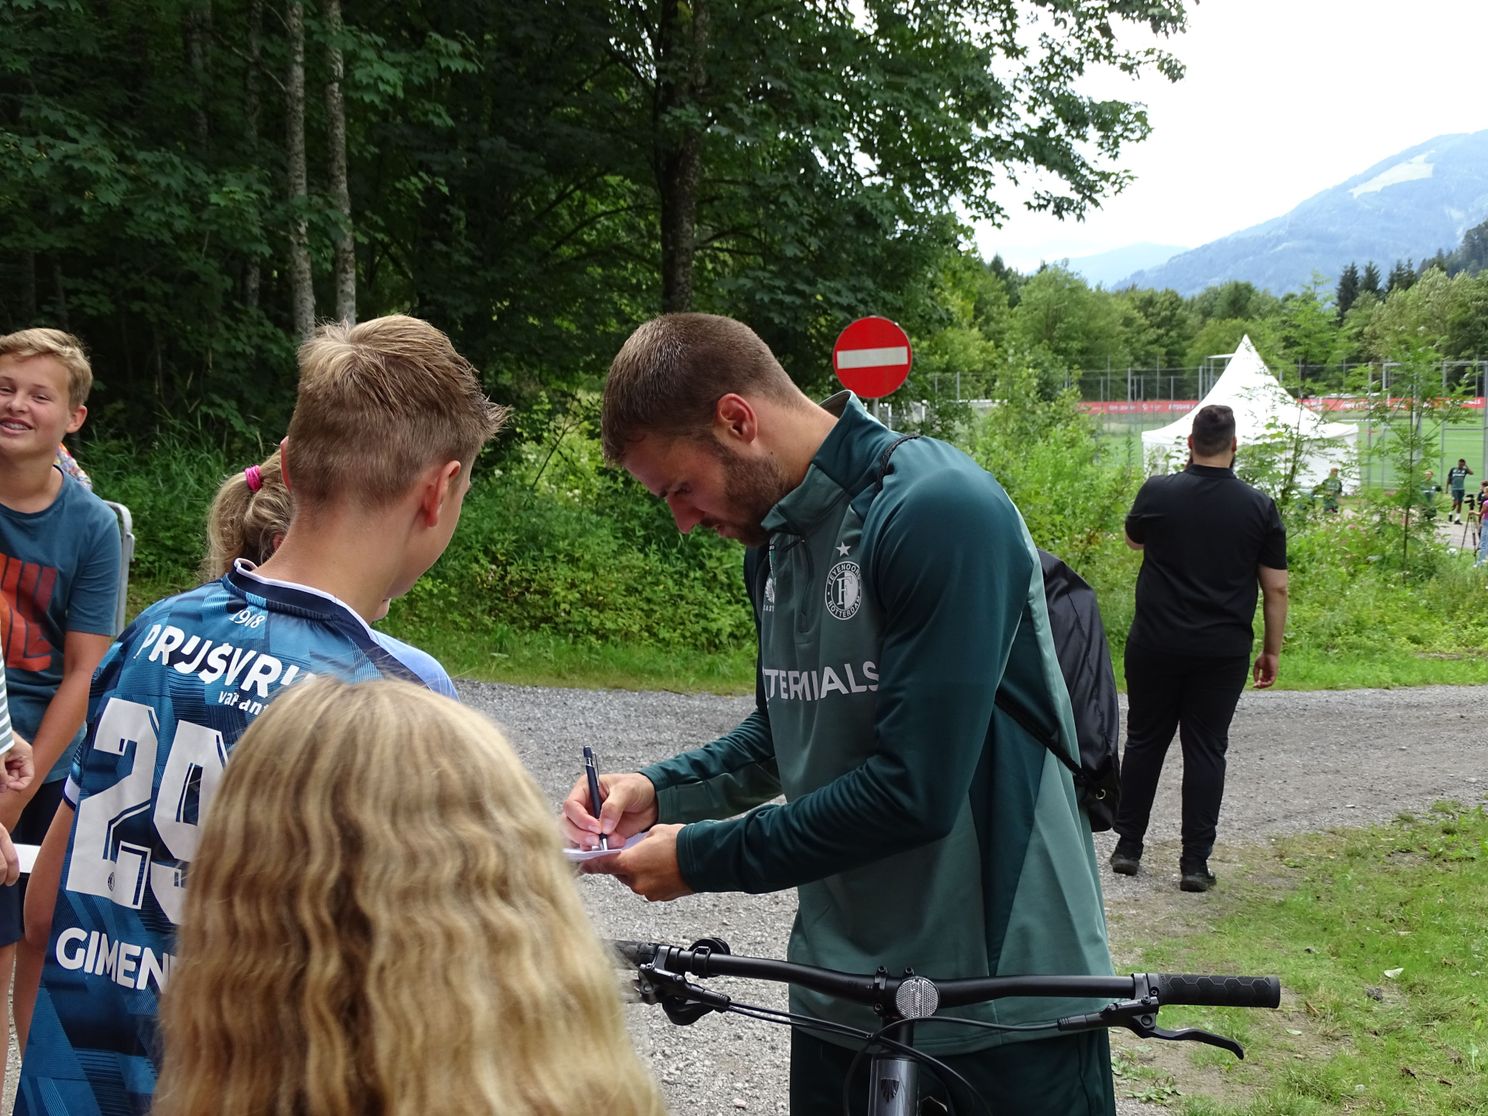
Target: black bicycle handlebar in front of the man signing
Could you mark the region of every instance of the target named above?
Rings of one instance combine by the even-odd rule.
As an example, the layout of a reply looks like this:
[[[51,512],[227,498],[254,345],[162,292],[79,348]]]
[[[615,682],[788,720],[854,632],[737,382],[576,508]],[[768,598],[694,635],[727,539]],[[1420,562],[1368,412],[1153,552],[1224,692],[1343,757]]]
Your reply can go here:
[[[1217,1007],[1277,1007],[1281,982],[1274,976],[1207,976],[1196,973],[1132,973],[1131,976],[973,976],[949,981],[933,978],[854,975],[815,966],[734,957],[708,946],[683,949],[661,942],[612,942],[616,952],[637,969],[652,964],[670,973],[692,976],[745,976],[780,981],[836,995],[853,1003],[893,1001],[909,981],[927,981],[939,1007],[982,1003],[1012,995],[1113,997],[1158,1004],[1204,1004]],[[931,1010],[934,1010],[931,1007]]]

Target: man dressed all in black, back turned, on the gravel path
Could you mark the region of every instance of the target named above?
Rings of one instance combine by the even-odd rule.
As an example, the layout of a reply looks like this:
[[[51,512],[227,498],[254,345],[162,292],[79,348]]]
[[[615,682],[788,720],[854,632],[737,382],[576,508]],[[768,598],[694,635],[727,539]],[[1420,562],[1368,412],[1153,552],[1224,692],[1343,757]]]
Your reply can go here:
[[[1214,848],[1225,795],[1229,722],[1250,673],[1257,689],[1277,680],[1287,618],[1287,537],[1275,501],[1240,481],[1235,414],[1205,406],[1193,417],[1187,469],[1149,479],[1126,516],[1126,545],[1143,552],[1137,613],[1126,637],[1126,750],[1119,841],[1112,869],[1135,875],[1173,734],[1183,745],[1184,891],[1214,885]],[[1256,588],[1265,638],[1254,667]]]

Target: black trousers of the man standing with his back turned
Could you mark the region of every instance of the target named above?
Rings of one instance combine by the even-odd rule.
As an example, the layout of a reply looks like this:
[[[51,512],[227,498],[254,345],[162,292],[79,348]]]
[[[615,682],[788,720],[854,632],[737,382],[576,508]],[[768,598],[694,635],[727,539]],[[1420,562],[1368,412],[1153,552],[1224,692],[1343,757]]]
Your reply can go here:
[[[1183,743],[1183,868],[1202,868],[1214,851],[1225,798],[1229,722],[1245,689],[1250,656],[1162,655],[1126,647],[1126,750],[1120,759],[1116,833],[1132,853],[1152,817],[1158,777],[1174,729]]]

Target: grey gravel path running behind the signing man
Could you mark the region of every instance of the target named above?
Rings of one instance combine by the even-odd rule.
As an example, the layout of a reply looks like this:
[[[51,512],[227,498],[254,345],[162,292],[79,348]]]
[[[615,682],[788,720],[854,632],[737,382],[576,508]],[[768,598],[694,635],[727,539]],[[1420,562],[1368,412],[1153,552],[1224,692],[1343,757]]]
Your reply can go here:
[[[604,769],[634,769],[732,728],[750,698],[711,695],[562,690],[464,682],[464,701],[506,726],[513,745],[555,808],[579,775],[579,748],[589,744]],[[1247,692],[1231,732],[1231,763],[1220,848],[1277,833],[1388,821],[1403,809],[1439,799],[1488,798],[1488,743],[1482,710],[1488,686],[1326,693]],[[1112,876],[1103,865],[1107,909],[1140,909],[1162,921],[1173,903],[1202,903],[1177,891],[1177,748],[1158,792],[1144,870]],[[1104,859],[1113,841],[1097,835]],[[1171,856],[1164,859],[1164,853]],[[1165,860],[1171,863],[1165,863]],[[1171,878],[1167,878],[1171,876]],[[579,881],[585,902],[610,937],[687,943],[725,937],[737,954],[780,957],[795,896],[689,896],[647,905],[607,876]],[[1115,920],[1113,926],[1126,923]],[[1115,946],[1122,948],[1116,940]],[[722,982],[719,982],[722,984]],[[778,988],[737,992],[783,1004]],[[789,1034],[783,1027],[713,1016],[690,1028],[667,1022],[658,1009],[626,1009],[638,1049],[661,1077],[677,1116],[784,1113]],[[12,1056],[10,1080],[13,1089]],[[1120,1101],[1120,1116],[1162,1109]]]

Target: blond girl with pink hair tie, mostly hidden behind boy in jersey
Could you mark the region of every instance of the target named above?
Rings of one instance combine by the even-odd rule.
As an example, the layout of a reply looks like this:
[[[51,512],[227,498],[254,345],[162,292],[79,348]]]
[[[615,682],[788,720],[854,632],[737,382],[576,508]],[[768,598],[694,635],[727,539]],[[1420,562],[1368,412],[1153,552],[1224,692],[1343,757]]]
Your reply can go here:
[[[292,512],[293,500],[284,484],[278,449],[262,464],[248,466],[223,481],[207,515],[202,580],[222,577],[240,558],[253,565],[266,562],[289,534]],[[382,601],[381,607],[366,618],[368,622],[381,620],[391,604],[391,600]],[[458,701],[454,683],[433,655],[375,628],[372,638],[393,652],[429,689]]]

